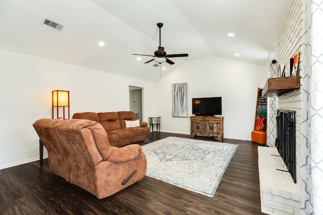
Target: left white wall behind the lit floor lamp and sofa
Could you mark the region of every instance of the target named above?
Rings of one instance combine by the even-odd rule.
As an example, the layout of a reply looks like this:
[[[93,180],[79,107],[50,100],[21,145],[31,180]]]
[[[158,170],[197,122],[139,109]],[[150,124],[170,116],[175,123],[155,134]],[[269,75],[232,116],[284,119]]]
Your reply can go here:
[[[129,85],[144,88],[147,120],[153,113],[153,83],[0,48],[0,169],[39,159],[32,124],[51,118],[52,90],[70,91],[72,117],[129,110]]]

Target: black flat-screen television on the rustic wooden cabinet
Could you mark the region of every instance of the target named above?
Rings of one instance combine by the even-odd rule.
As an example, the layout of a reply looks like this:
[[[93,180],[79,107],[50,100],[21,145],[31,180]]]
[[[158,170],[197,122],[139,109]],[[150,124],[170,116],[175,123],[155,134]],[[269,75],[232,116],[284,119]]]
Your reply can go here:
[[[196,116],[222,115],[222,97],[193,98],[192,114]]]

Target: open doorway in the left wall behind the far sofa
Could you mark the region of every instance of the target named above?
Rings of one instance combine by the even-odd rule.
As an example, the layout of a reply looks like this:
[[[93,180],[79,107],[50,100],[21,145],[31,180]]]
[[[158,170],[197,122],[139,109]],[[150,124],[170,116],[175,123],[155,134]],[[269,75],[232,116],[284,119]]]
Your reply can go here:
[[[129,86],[129,110],[136,114],[136,118],[142,122],[142,92],[143,88]]]

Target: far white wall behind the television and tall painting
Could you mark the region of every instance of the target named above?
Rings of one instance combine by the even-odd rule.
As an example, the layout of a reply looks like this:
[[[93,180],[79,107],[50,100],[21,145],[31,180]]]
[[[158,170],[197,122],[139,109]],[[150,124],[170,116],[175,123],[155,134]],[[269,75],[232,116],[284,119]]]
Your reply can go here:
[[[265,85],[266,74],[267,66],[216,56],[180,65],[155,84],[154,116],[161,116],[160,130],[190,134],[189,117],[172,117],[172,84],[187,82],[189,116],[192,98],[221,96],[224,137],[251,140],[257,88]]]

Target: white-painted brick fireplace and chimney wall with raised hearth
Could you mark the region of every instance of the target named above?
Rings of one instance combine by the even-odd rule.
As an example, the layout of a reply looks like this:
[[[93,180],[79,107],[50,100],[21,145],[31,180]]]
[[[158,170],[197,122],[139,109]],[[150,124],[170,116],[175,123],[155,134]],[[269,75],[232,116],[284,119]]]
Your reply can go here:
[[[276,60],[268,67],[268,78],[278,77],[278,64],[289,62],[299,52],[298,75],[303,76],[304,47],[304,5],[302,1],[293,1],[287,12],[284,27],[279,36]],[[291,28],[293,26],[293,28]],[[305,54],[306,55],[306,54]],[[302,118],[302,84],[298,90],[281,96],[267,98],[267,146],[258,147],[259,182],[261,210],[267,214],[300,214],[301,208],[301,118]],[[278,157],[276,149],[277,110],[295,111],[295,176],[296,183],[289,172],[277,171],[286,169],[283,160]],[[272,156],[277,155],[277,156]],[[287,169],[286,169],[287,170]]]

